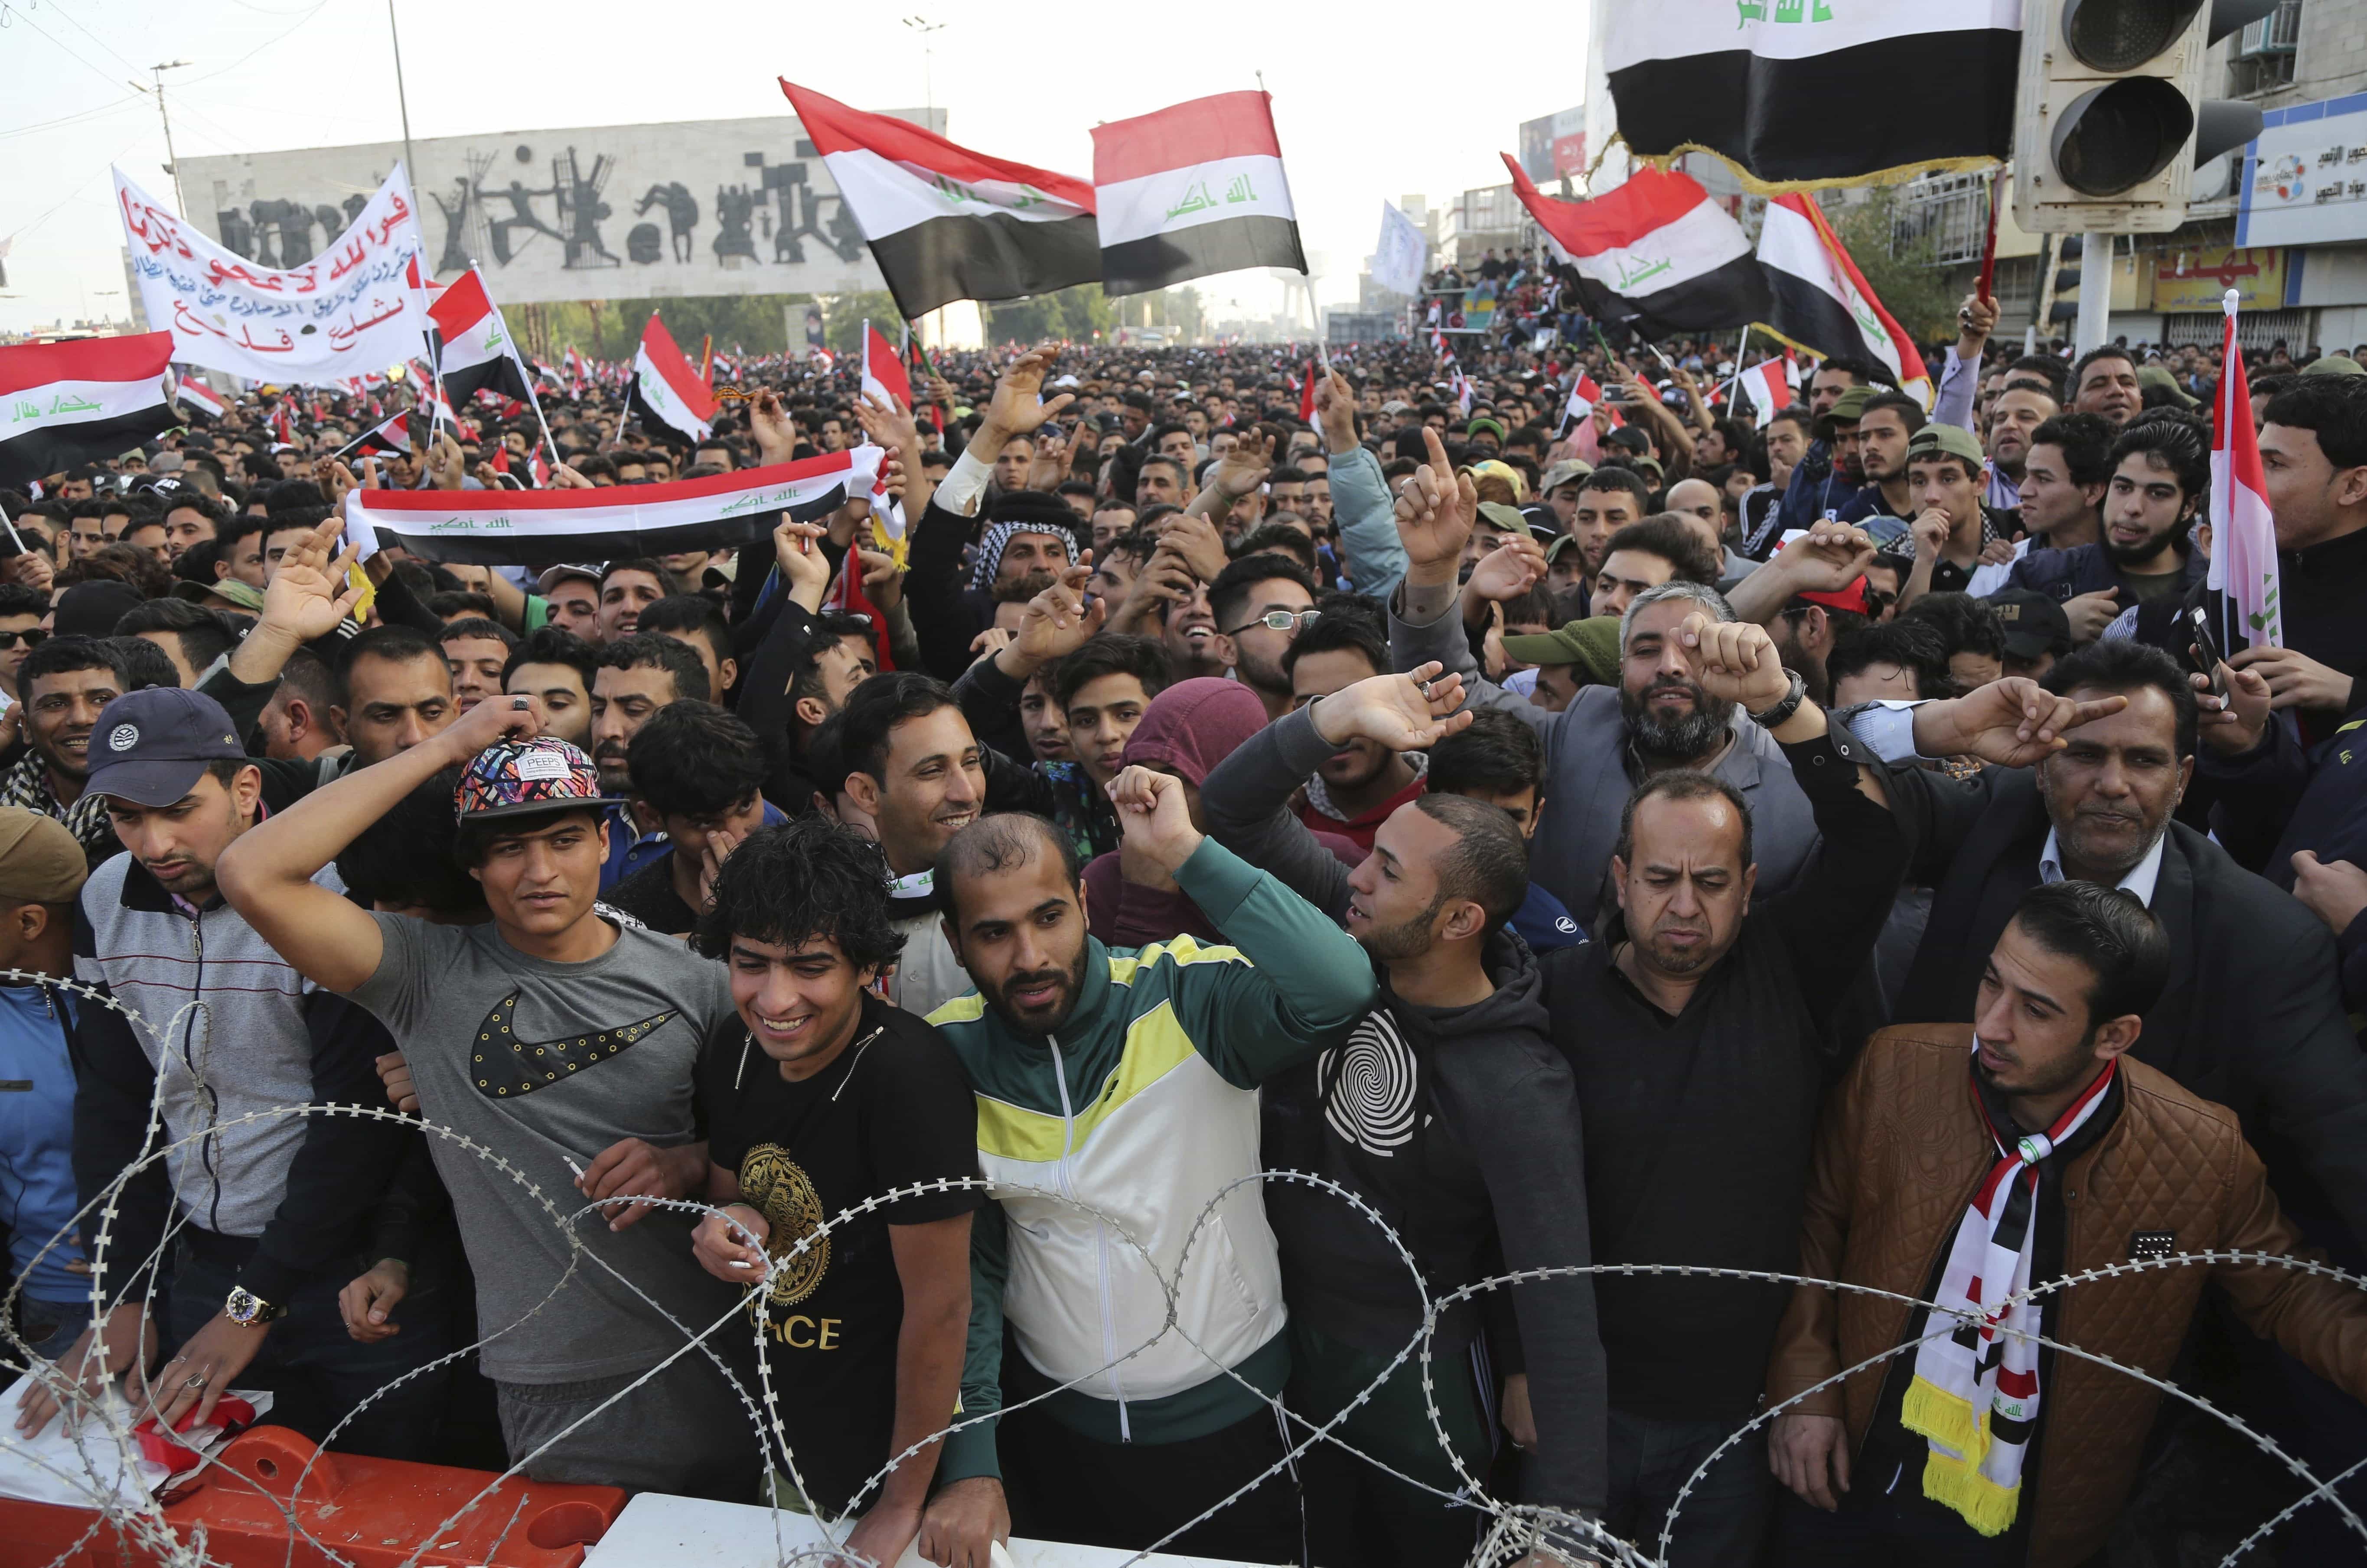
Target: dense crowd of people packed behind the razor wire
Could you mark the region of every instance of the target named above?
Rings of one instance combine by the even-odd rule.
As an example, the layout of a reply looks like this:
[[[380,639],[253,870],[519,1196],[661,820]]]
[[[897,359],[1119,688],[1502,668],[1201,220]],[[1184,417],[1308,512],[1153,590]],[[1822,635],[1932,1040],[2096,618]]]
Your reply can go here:
[[[1756,421],[1591,331],[369,459],[263,388],[0,494],[7,1419],[270,1388],[871,1563],[2218,1561],[2367,1457],[2279,1263],[2367,1270],[2367,374],[2251,364],[2251,646],[2218,355],[1960,322]],[[343,537],[864,442],[895,537]]]

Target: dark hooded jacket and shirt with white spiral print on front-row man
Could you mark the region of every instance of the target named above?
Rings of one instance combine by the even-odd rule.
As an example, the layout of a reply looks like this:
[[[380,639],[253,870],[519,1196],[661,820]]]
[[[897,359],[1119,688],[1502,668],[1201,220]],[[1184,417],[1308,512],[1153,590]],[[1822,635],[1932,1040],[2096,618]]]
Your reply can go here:
[[[1207,776],[1200,806],[1217,842],[1337,920],[1347,868],[1285,806],[1330,752],[1304,710],[1290,714]],[[1373,967],[1380,1005],[1347,1043],[1266,1083],[1266,1168],[1356,1192],[1406,1242],[1432,1298],[1494,1272],[1593,1263],[1586,1133],[1527,944],[1510,932],[1489,941],[1496,993],[1470,1007],[1415,1007]],[[1335,1192],[1269,1183],[1266,1216],[1292,1313],[1387,1355],[1420,1331],[1404,1256]],[[1593,1279],[1536,1279],[1510,1296],[1539,1433],[1529,1499],[1600,1509],[1607,1374]],[[1442,1317],[1434,1353],[1470,1343],[1477,1317],[1472,1303]]]

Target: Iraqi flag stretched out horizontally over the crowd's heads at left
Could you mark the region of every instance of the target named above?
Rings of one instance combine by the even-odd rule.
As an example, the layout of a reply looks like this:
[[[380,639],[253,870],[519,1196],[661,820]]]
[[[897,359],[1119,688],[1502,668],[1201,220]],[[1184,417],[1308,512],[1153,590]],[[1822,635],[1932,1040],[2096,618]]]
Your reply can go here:
[[[819,523],[871,494],[883,447],[802,464],[608,490],[353,490],[346,542],[365,558],[400,544],[421,561],[549,565],[734,549],[772,534],[781,513]]]

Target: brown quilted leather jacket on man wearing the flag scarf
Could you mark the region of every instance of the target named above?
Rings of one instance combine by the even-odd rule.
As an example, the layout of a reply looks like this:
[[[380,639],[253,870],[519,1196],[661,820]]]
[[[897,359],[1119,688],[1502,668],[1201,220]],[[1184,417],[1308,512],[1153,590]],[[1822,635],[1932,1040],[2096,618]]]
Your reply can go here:
[[[1901,1024],[1868,1041],[1815,1135],[1799,1272],[1922,1298],[1995,1145],[1976,1109],[1972,1024]],[[2168,1251],[2298,1253],[2260,1159],[2225,1107],[2197,1100],[2121,1057],[2111,1128],[2062,1171],[2064,1270],[2128,1263],[2137,1232]],[[2289,1268],[2206,1263],[2069,1287],[2052,1339],[2166,1376],[2194,1303],[2216,1279],[2258,1334],[2353,1398],[2367,1398],[2367,1291]],[[1901,1346],[1920,1308],[1863,1291],[1797,1287],[1775,1331],[1768,1405]],[[1794,1410],[1842,1417],[1851,1454],[1882,1398],[1889,1360],[1806,1395]],[[2057,1353],[2043,1393],[2031,1563],[2057,1568],[2104,1544],[2135,1480],[2161,1393],[2123,1372]],[[1853,1483],[1863,1480],[1853,1473]]]

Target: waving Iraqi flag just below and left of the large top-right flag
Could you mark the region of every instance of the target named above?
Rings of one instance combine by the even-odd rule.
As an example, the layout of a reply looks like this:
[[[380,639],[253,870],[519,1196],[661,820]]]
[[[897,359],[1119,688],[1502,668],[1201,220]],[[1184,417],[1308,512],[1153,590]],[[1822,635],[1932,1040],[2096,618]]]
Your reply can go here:
[[[1664,336],[1744,326],[1766,312],[1749,237],[1692,175],[1638,168],[1593,201],[1560,201],[1510,156],[1503,166],[1546,244],[1579,274],[1588,315]]]

